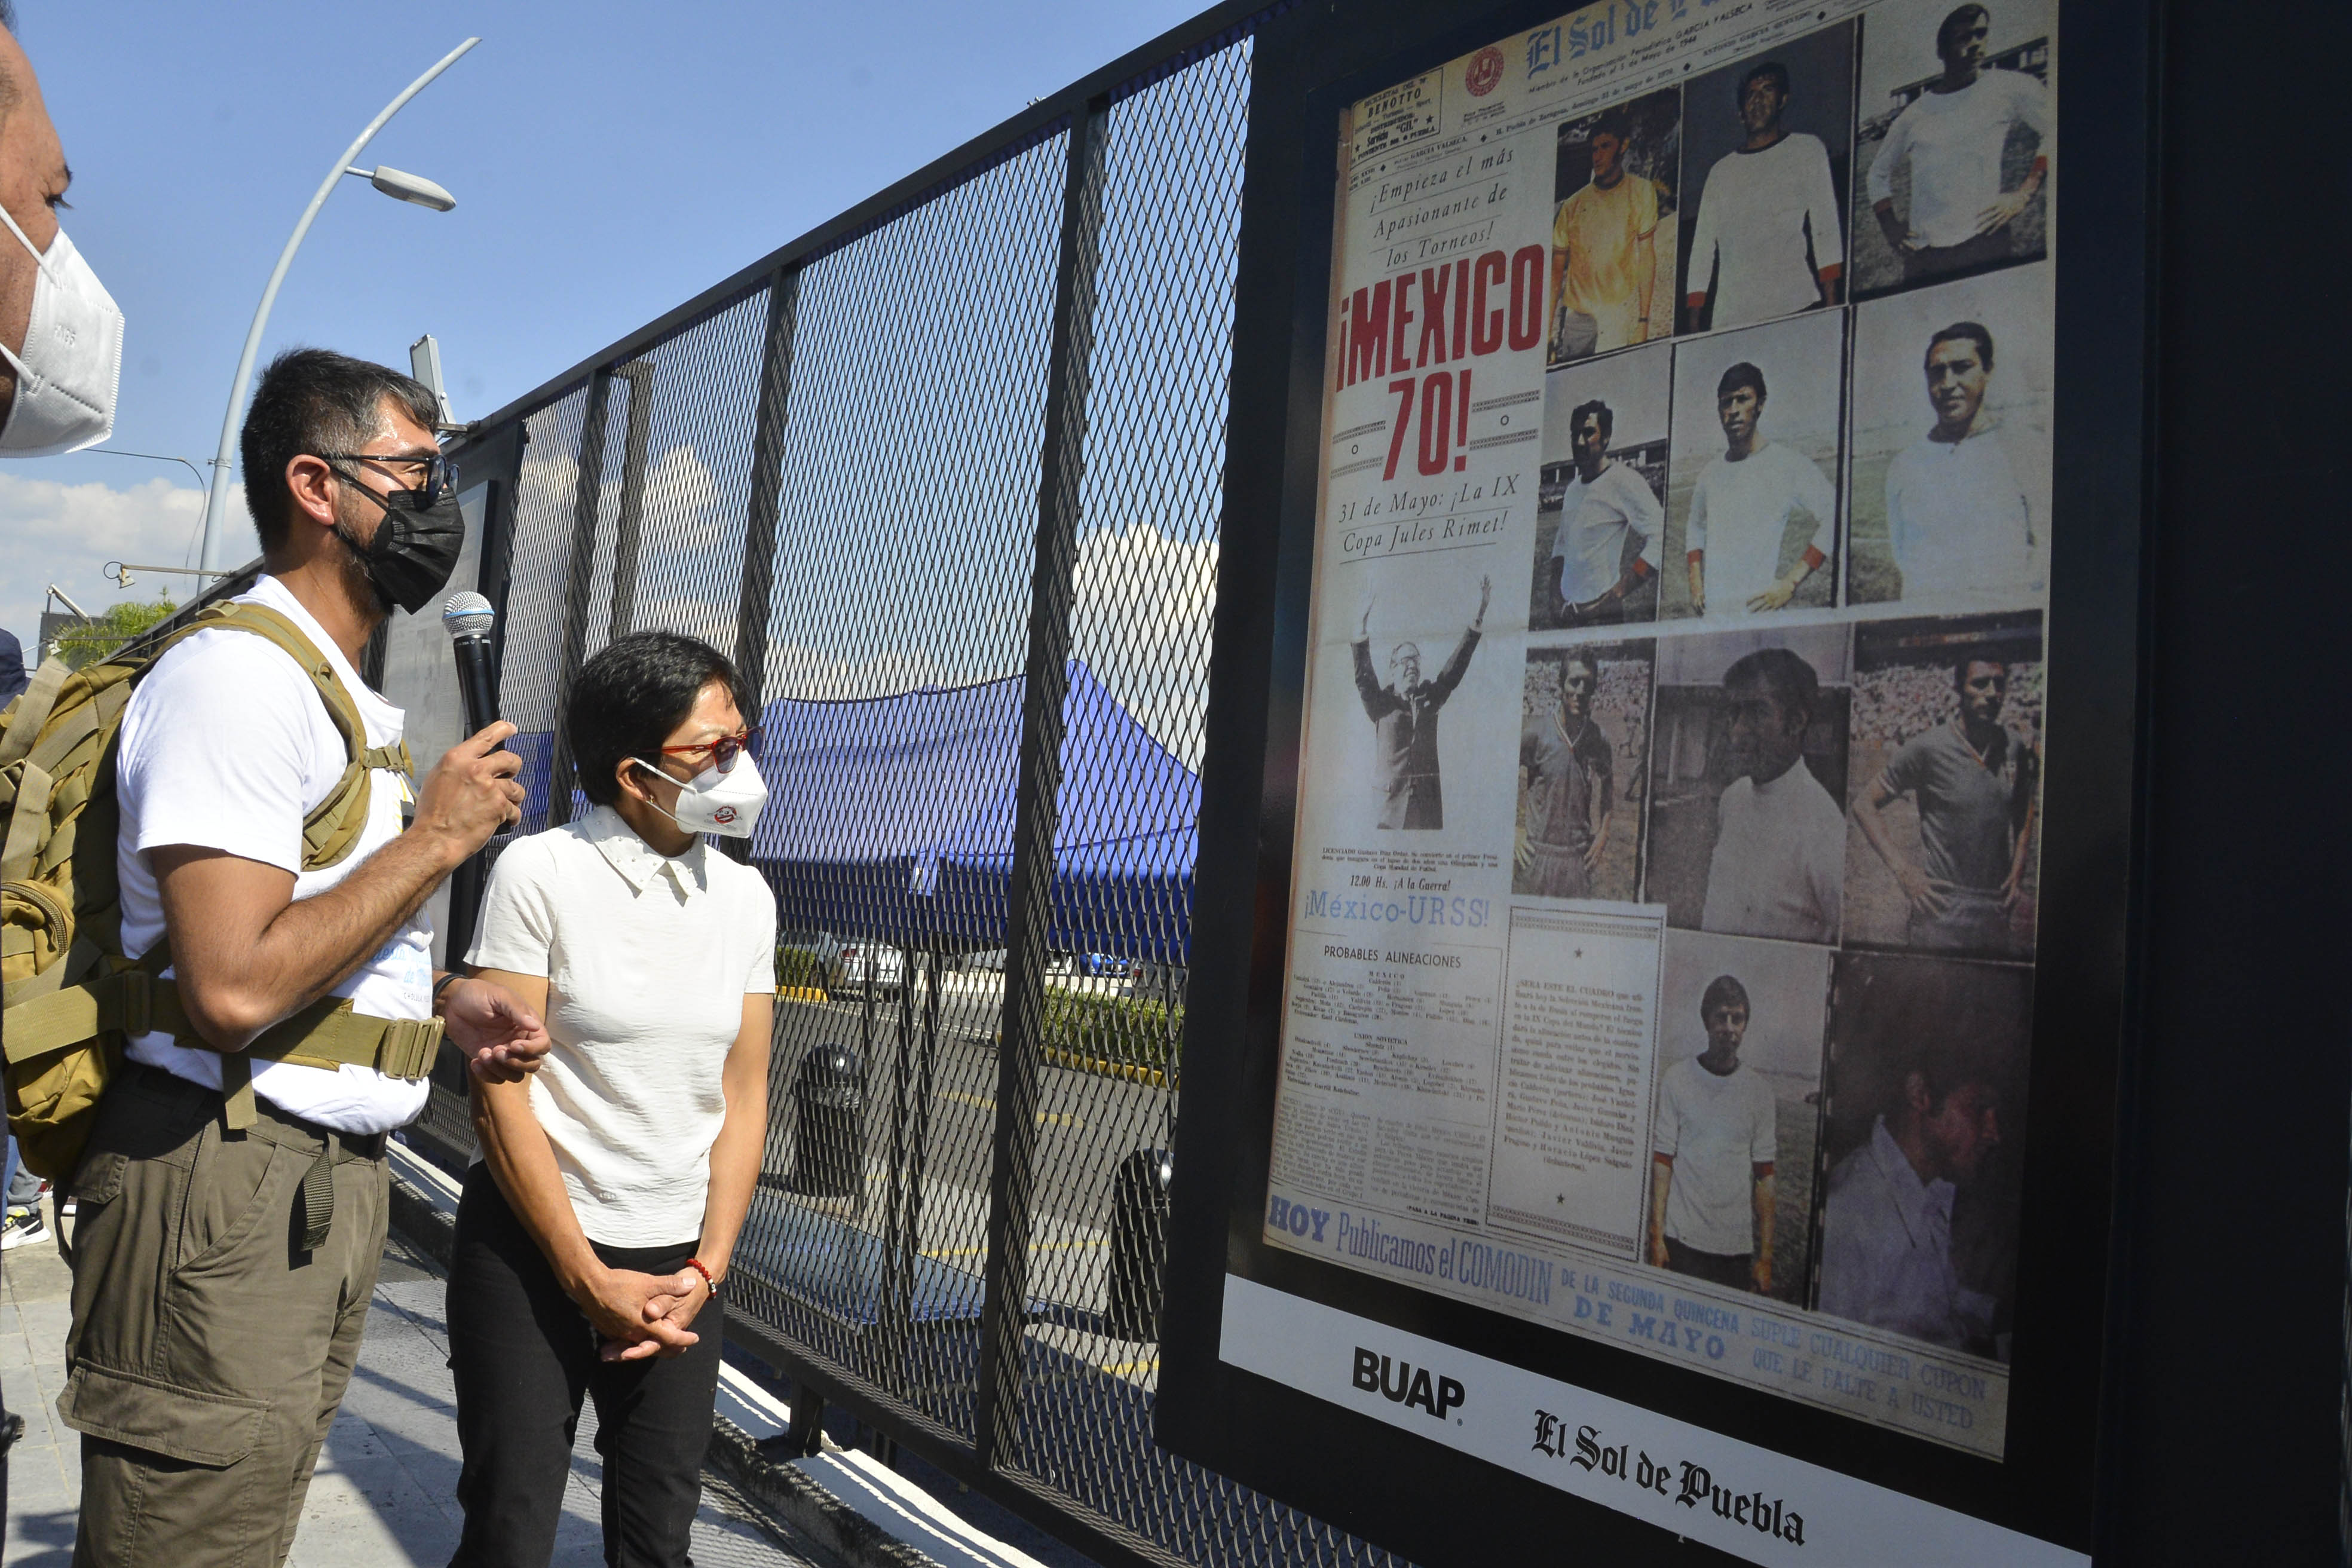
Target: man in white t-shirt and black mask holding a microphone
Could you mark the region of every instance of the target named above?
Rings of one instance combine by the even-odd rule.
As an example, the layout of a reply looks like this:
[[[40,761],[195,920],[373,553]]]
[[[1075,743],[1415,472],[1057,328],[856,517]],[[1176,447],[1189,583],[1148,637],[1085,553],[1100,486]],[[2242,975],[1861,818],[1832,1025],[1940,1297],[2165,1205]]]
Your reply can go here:
[[[122,719],[122,945],[169,943],[188,1032],[129,1041],[73,1178],[56,1408],[82,1434],[75,1563],[280,1563],[292,1547],[383,1253],[383,1140],[428,1093],[421,1077],[278,1060],[310,1004],[440,1016],[487,1079],[548,1048],[506,990],[435,980],[419,914],[520,816],[517,757],[492,750],[515,726],[456,745],[412,790],[402,715],[358,672],[393,602],[421,609],[456,562],[463,520],[435,414],[433,393],[381,364],[280,355],[245,421],[268,574],[242,602],[285,616],[318,663],[254,632],[198,632],[155,661]],[[320,670],[358,705],[367,733],[350,748]],[[372,769],[358,842],[303,870],[306,816],[350,750]],[[223,1093],[230,1077],[249,1095],[235,1081]]]

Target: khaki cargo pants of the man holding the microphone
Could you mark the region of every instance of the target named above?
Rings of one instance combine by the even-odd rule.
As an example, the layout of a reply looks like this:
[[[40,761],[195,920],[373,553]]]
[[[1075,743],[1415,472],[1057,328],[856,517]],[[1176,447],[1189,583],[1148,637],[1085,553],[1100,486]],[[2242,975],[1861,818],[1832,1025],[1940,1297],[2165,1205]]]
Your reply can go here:
[[[390,1178],[381,1138],[334,1166],[334,1225],[303,1241],[322,1140],[261,1105],[125,1067],[75,1173],[73,1331],[56,1413],[82,1434],[75,1568],[275,1568],[360,1359]]]

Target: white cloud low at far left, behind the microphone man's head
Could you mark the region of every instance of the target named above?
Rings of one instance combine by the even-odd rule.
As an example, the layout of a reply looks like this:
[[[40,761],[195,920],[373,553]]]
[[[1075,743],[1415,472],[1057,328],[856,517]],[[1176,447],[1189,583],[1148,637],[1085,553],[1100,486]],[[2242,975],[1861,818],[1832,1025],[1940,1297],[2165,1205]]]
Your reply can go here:
[[[143,484],[61,484],[0,470],[0,625],[33,654],[40,602],[56,583],[89,614],[125,599],[188,599],[198,578],[136,574],[129,590],[99,576],[106,562],[195,564],[205,491],[169,480]],[[228,494],[230,529],[221,557],[245,564],[261,552],[245,515],[245,489]]]

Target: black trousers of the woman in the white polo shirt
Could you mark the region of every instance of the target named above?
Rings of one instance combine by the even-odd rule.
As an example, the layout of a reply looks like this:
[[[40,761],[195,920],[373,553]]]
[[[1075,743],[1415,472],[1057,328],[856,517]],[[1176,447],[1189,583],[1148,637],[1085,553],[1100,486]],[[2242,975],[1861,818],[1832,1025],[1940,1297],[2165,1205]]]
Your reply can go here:
[[[595,1251],[607,1267],[675,1274],[694,1241]],[[489,1166],[468,1171],[449,1269],[466,1533],[449,1568],[529,1568],[555,1554],[581,1394],[595,1399],[604,1460],[604,1561],[689,1568],[724,1321],[710,1302],[694,1319],[701,1340],[682,1356],[600,1361],[588,1314],[555,1284]]]

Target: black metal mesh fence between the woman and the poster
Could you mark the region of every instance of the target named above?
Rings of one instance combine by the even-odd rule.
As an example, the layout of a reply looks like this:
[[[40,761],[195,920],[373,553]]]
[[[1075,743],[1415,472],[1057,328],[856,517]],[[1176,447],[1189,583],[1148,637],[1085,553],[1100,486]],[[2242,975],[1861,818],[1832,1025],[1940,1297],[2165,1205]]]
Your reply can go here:
[[[501,705],[529,832],[612,637],[757,672],[781,994],[731,1312],[804,1394],[1105,1561],[1388,1563],[1150,1436],[1247,33],[527,414]]]

